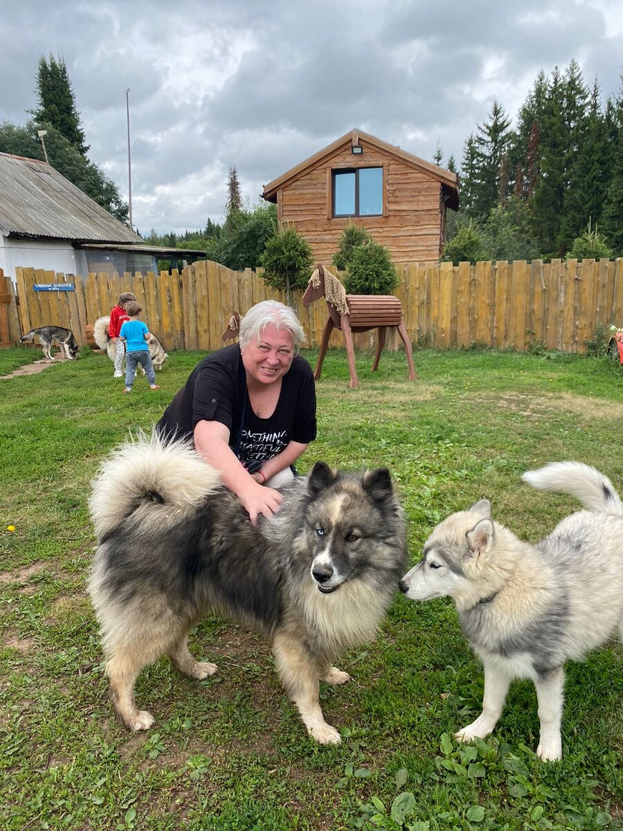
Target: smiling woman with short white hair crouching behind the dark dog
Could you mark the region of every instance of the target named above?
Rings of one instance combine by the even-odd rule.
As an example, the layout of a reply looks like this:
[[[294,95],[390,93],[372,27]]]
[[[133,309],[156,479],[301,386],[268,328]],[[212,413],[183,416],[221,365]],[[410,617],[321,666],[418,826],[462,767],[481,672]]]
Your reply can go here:
[[[158,430],[188,436],[252,522],[279,509],[274,488],[316,438],[312,367],[298,355],[305,334],[290,307],[253,306],[240,322],[240,342],[204,358],[174,397]]]

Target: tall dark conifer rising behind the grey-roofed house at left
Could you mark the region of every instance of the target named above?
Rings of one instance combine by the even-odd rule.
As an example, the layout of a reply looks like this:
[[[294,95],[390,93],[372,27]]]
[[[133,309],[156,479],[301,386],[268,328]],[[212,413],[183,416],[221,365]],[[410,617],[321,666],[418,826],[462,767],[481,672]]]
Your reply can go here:
[[[43,56],[39,58],[37,94],[39,106],[32,111],[37,123],[45,121],[52,124],[86,158],[89,145],[85,143],[86,136],[81,127],[80,113],[76,110],[76,99],[64,58],[56,60],[51,55],[49,62]]]

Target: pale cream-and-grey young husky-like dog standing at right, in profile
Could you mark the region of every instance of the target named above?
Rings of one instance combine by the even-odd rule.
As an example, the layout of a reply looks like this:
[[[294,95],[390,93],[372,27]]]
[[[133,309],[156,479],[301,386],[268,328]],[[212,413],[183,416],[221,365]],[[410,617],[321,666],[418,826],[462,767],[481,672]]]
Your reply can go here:
[[[534,488],[571,494],[586,510],[563,519],[536,545],[490,519],[481,499],[439,524],[424,558],[400,581],[412,600],[453,597],[484,664],[483,712],[456,734],[490,733],[513,678],[537,687],[537,755],[562,756],[564,663],[581,660],[613,632],[623,639],[623,504],[609,479],[579,462],[525,473]]]

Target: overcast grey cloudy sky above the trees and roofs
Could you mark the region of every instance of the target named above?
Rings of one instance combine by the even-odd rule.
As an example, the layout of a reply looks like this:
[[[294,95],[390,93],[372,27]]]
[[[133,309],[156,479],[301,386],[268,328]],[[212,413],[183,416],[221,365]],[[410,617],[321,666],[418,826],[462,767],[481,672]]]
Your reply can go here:
[[[621,88],[621,0],[0,0],[0,120],[36,106],[39,57],[64,57],[91,160],[141,234],[223,214],[230,165],[263,185],[358,127],[431,160],[463,155],[494,99],[579,61]]]

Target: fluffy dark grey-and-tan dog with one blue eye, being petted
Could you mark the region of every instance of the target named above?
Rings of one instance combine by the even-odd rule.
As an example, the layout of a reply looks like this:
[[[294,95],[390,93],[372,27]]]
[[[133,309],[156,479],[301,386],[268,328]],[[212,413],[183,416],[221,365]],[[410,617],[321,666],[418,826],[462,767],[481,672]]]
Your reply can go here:
[[[137,710],[134,686],[159,656],[194,678],[217,671],[187,646],[189,630],[216,611],[272,641],[310,735],[340,741],[322,715],[318,682],[349,680],[333,661],[375,637],[406,563],[405,522],[385,468],[352,475],[318,462],[284,491],[278,514],[254,526],[189,445],[155,434],[105,460],[90,505],[99,546],[89,593],[126,725],[154,723]]]

